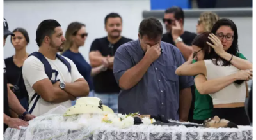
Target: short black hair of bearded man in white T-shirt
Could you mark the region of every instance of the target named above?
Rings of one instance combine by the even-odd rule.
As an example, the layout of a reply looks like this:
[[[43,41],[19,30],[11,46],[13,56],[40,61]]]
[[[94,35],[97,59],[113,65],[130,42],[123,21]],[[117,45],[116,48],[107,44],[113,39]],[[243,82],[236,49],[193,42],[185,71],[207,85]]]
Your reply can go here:
[[[60,27],[61,25],[56,20],[44,20],[36,29],[36,43],[40,47],[45,36],[51,36],[54,34],[54,29]]]

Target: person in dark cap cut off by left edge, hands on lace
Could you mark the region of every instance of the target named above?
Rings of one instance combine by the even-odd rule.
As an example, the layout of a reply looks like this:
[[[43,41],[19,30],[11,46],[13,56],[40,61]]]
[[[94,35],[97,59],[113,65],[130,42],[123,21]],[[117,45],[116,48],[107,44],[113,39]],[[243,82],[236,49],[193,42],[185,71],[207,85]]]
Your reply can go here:
[[[11,35],[14,36],[12,32],[9,31],[8,23],[4,19],[4,45],[6,38]],[[28,126],[28,122],[20,120],[19,118],[10,118],[9,109],[12,109],[17,115],[22,115],[25,120],[31,120],[35,118],[34,115],[30,115],[26,109],[24,109],[16,95],[7,85],[8,81],[6,78],[6,69],[4,63],[4,132],[8,127],[19,129],[19,126]]]

